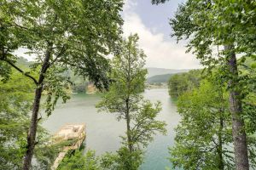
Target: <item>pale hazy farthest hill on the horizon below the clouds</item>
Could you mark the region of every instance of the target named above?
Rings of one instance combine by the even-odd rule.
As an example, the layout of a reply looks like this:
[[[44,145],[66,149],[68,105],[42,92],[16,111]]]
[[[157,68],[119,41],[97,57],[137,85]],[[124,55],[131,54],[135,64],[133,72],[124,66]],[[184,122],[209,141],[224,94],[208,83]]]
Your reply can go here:
[[[148,75],[147,77],[154,77],[157,75],[167,75],[167,74],[175,74],[179,72],[188,72],[189,69],[183,69],[183,70],[174,70],[174,69],[163,69],[163,68],[154,68],[154,67],[148,67]]]

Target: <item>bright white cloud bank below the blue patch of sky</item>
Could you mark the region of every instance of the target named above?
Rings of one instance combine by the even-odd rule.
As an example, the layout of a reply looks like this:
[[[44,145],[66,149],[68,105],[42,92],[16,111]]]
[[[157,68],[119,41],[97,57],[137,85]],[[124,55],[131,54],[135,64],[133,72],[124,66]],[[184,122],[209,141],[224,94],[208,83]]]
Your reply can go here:
[[[199,61],[192,54],[186,54],[186,48],[182,44],[174,41],[166,41],[164,34],[155,32],[143,24],[139,15],[132,7],[136,5],[132,0],[125,1],[123,18],[124,36],[128,37],[131,33],[137,33],[140,37],[139,45],[147,54],[148,67],[160,67],[170,69],[190,69],[199,68]],[[149,11],[148,11],[149,12]]]

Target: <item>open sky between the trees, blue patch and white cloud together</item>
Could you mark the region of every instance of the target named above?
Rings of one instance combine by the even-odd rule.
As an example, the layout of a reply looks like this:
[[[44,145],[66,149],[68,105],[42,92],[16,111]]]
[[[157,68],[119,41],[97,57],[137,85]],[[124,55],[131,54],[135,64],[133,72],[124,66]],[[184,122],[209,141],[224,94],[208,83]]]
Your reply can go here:
[[[170,37],[172,28],[169,19],[185,0],[170,0],[165,4],[152,5],[151,0],[125,0],[123,11],[125,37],[137,33],[139,45],[147,54],[148,67],[169,69],[199,68],[193,54],[186,54],[184,42],[176,43]]]

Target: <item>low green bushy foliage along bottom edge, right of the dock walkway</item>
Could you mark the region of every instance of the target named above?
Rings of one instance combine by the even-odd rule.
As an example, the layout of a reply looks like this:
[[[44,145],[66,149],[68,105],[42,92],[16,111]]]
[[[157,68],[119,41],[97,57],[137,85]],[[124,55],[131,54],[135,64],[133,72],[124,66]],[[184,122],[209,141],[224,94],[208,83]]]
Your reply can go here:
[[[139,152],[140,150],[130,153],[126,147],[121,147],[116,154],[107,152],[96,156],[94,150],[87,150],[85,154],[84,150],[76,150],[65,156],[58,170],[136,170],[143,162],[142,153]],[[128,161],[131,157],[132,164]]]

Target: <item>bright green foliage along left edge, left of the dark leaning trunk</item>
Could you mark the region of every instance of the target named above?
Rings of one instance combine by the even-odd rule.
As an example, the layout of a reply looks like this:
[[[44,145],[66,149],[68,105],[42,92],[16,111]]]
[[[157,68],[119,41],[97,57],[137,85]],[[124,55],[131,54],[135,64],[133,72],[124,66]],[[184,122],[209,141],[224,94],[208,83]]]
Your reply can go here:
[[[32,82],[12,72],[0,82],[0,169],[20,168],[32,107]]]

